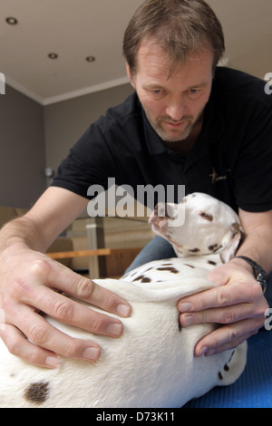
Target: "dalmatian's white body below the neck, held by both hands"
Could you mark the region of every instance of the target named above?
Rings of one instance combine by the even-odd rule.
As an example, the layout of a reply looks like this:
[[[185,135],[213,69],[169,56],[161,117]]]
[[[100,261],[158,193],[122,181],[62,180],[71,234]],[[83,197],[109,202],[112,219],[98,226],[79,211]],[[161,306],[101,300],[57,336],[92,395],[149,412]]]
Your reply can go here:
[[[234,382],[246,364],[246,343],[236,351],[197,358],[195,344],[215,328],[214,324],[180,329],[180,298],[212,286],[202,276],[213,267],[207,259],[197,267],[191,267],[188,260],[151,262],[127,276],[132,280],[158,272],[161,279],[150,286],[141,280],[96,280],[132,306],[131,316],[122,319],[124,332],[118,339],[93,335],[48,318],[63,333],[100,344],[102,355],[96,363],[63,359],[57,369],[47,370],[24,363],[8,353],[0,341],[0,406],[175,408],[216,385]],[[158,271],[164,266],[179,268],[180,272]],[[165,282],[160,283],[162,276]]]

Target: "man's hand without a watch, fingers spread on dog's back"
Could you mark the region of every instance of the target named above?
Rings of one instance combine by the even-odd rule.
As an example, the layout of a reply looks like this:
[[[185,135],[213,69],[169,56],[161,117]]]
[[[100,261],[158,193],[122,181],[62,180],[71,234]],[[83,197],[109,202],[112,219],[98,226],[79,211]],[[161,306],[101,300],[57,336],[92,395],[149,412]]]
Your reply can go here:
[[[115,315],[131,314],[131,306],[118,295],[41,253],[25,249],[20,255],[2,257],[1,265],[0,309],[5,324],[0,337],[11,353],[29,363],[55,367],[58,355],[91,361],[100,356],[98,344],[63,334],[39,312],[94,334],[118,337],[122,333],[119,319],[97,313],[61,292]]]

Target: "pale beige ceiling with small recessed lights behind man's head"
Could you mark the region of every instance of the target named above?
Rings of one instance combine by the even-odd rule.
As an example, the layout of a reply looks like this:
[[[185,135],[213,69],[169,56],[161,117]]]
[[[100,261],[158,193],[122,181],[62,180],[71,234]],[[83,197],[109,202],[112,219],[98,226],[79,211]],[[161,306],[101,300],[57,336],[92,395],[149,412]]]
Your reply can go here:
[[[142,2],[0,0],[0,73],[44,105],[127,82],[122,36]],[[260,78],[272,73],[272,1],[208,3],[224,28],[228,66]],[[7,17],[18,24],[7,24]],[[88,56],[95,61],[87,62]]]

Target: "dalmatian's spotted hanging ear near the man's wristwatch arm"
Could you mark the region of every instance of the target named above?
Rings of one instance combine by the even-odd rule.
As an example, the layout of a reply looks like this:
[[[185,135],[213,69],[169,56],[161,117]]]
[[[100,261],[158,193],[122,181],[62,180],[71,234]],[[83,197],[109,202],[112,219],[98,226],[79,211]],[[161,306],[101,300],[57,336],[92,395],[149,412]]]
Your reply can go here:
[[[244,229],[238,224],[238,222],[233,223],[227,234],[223,237],[223,250],[220,253],[220,258],[223,263],[227,263],[228,260],[235,256],[244,236]]]

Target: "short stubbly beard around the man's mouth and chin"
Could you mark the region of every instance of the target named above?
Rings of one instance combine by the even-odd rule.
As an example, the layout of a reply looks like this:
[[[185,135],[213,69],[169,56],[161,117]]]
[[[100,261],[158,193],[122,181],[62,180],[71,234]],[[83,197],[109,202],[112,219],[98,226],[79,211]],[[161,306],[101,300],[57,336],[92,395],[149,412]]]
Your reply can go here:
[[[178,123],[180,121],[174,121],[174,120],[171,120],[170,117],[165,116],[165,117],[159,117],[157,121],[154,122],[151,120],[150,114],[147,111],[145,111],[145,113],[146,113],[148,121],[151,124],[152,129],[156,131],[156,133],[160,136],[160,138],[164,140],[165,142],[179,142],[180,140],[186,140],[189,137],[189,134],[191,133],[191,131],[193,131],[195,126],[199,123],[199,121],[202,120],[202,117],[203,117],[203,111],[199,113],[195,121],[193,121],[193,117],[191,116],[182,117],[182,121],[186,121],[186,125],[183,127],[182,130],[179,131],[178,129],[177,135],[174,136],[173,134],[170,135],[170,131],[166,131],[161,126],[160,123],[162,121],[168,121],[172,123]]]

